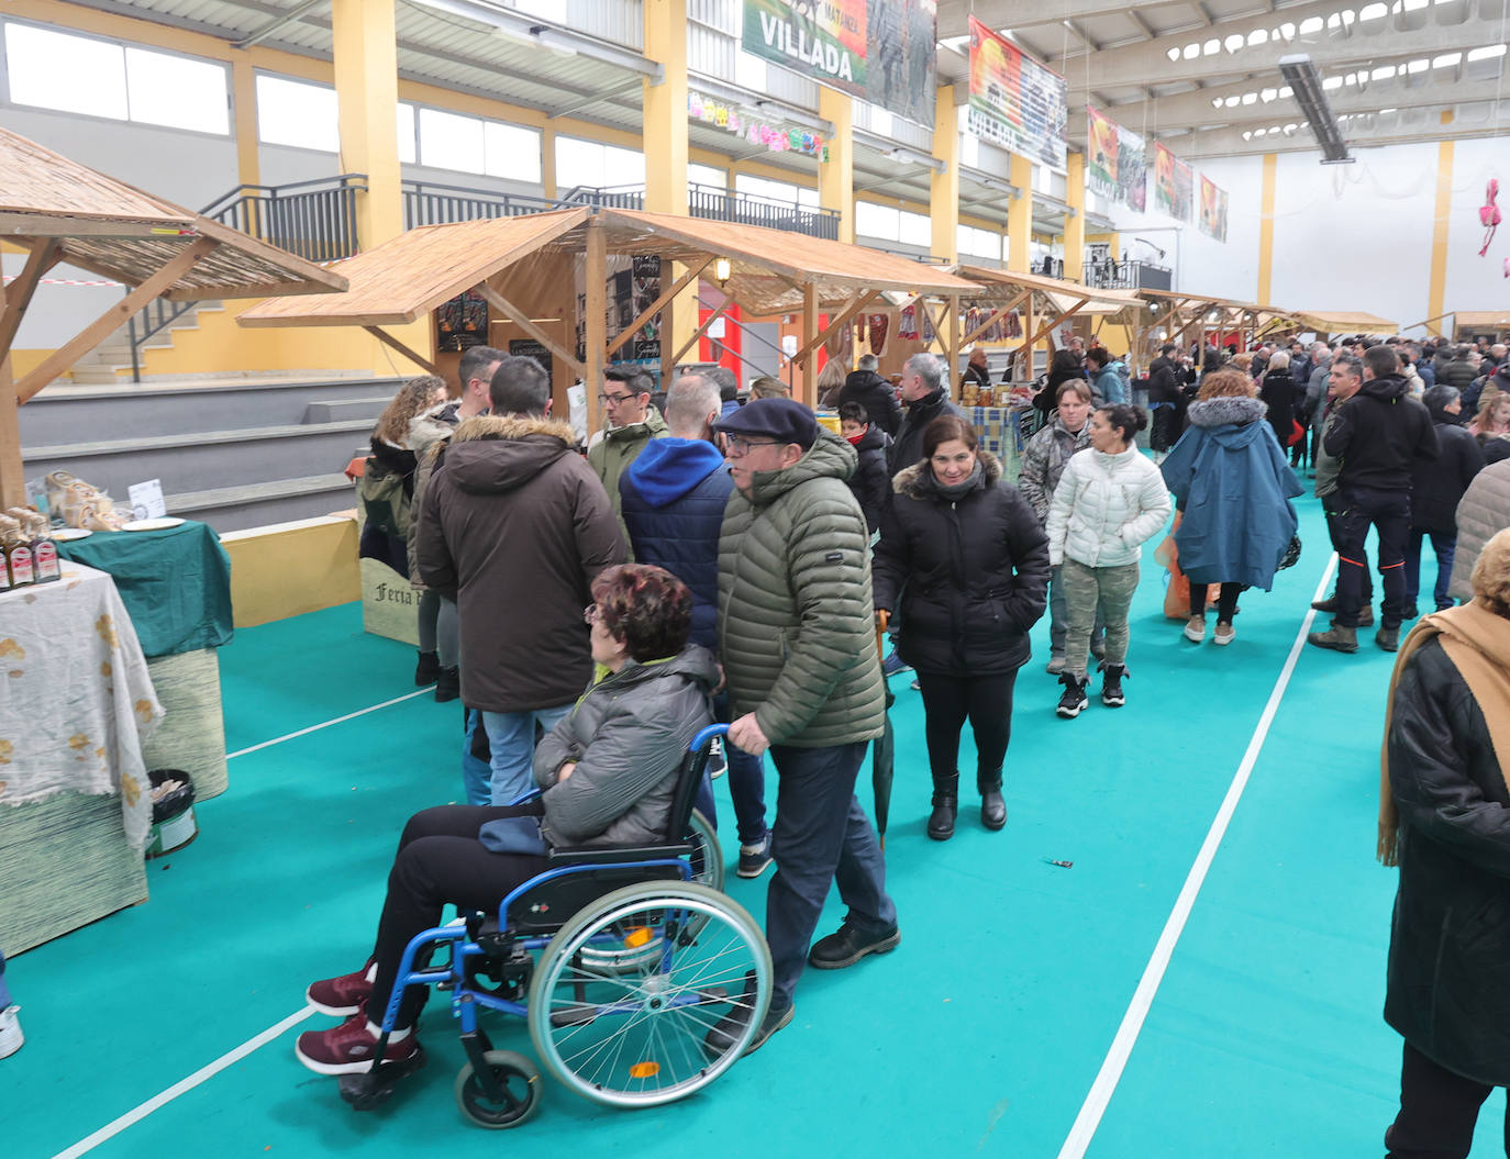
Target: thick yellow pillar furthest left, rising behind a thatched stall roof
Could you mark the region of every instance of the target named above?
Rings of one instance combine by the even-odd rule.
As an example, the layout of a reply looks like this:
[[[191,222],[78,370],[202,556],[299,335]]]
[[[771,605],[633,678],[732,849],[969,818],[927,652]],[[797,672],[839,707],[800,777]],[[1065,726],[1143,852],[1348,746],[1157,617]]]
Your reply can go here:
[[[403,232],[394,0],[331,0],[331,32],[341,164],[367,174],[367,192],[356,195],[356,240],[371,249]]]

